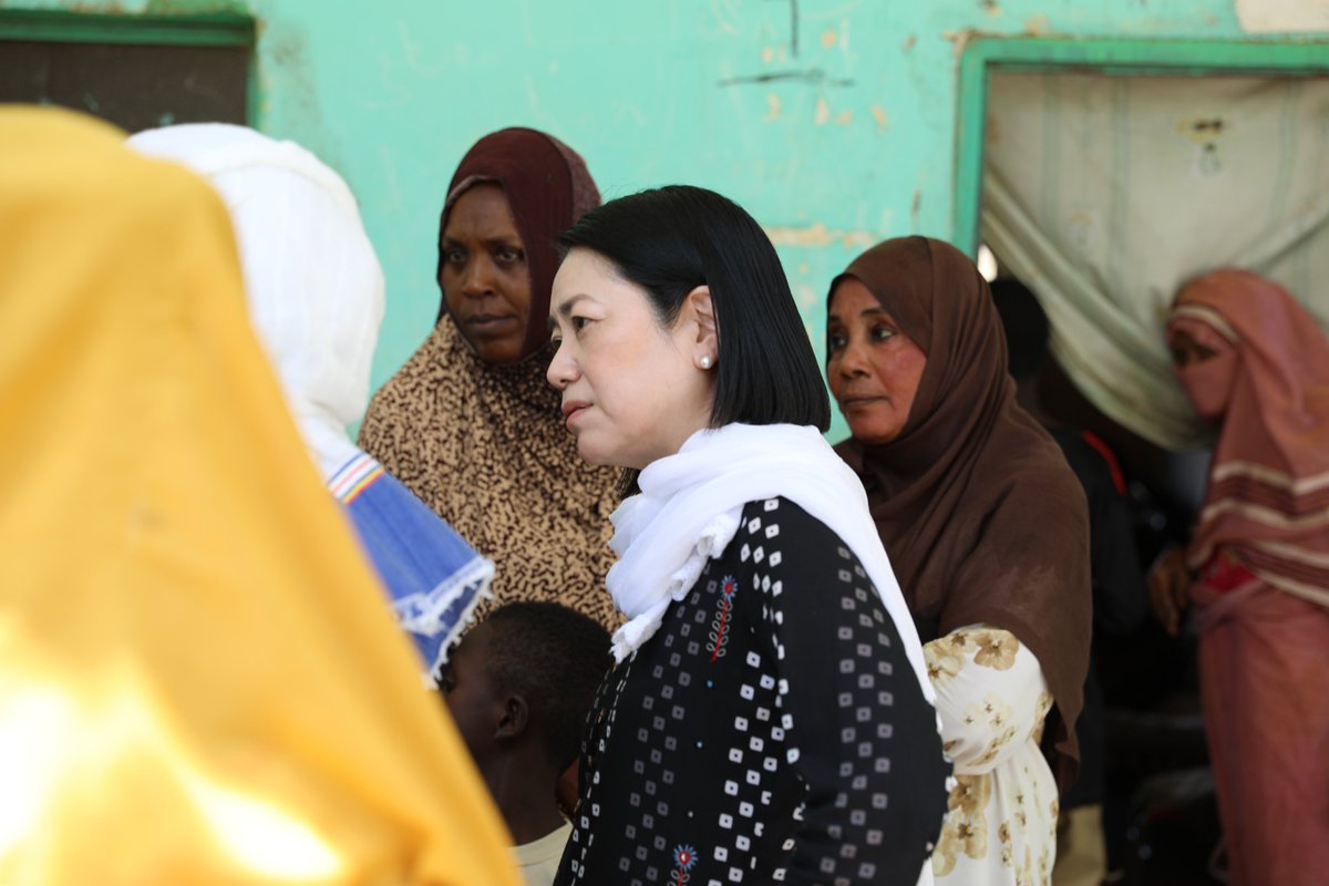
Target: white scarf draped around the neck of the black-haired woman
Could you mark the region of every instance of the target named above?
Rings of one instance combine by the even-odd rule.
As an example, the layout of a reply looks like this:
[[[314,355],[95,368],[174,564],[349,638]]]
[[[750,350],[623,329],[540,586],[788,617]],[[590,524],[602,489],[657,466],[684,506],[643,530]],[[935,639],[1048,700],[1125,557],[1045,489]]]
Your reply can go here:
[[[706,562],[739,527],[743,506],[783,495],[825,523],[853,551],[896,624],[924,696],[932,684],[890,561],[868,513],[863,482],[816,428],[726,425],[699,430],[675,456],[638,478],[642,491],[614,511],[609,592],[630,620],[614,632],[622,662],[655,634],[668,604],[683,599]]]

